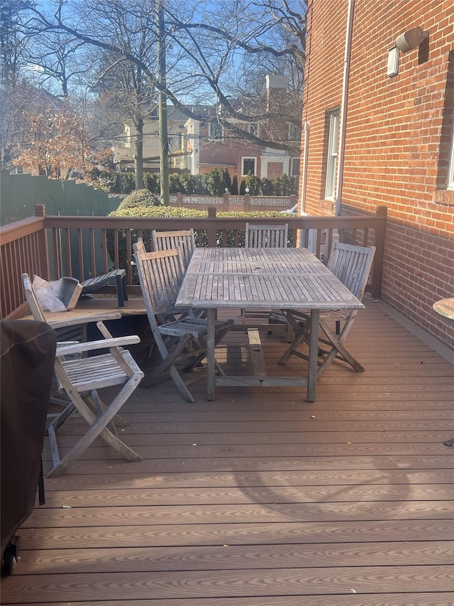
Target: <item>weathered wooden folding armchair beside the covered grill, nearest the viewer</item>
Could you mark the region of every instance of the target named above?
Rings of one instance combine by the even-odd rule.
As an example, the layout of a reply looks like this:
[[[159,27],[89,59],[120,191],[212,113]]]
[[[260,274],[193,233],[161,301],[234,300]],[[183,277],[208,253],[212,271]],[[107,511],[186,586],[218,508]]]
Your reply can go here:
[[[30,305],[33,318],[46,322],[43,308],[33,291],[28,274],[22,274],[22,278],[26,300]],[[117,314],[115,317],[120,318],[121,316]],[[140,338],[137,336],[114,338],[104,323],[99,321],[96,325],[104,337],[101,340],[70,344],[57,343],[54,369],[59,389],[66,392],[69,404],[48,426],[53,465],[52,470],[47,474],[48,477],[62,475],[98,436],[129,461],[142,460],[140,455],[118,438],[115,425],[116,421],[118,425],[128,425],[123,418],[118,416],[118,411],[143,378],[143,372],[135,363],[131,353],[123,350],[121,346],[138,343]],[[109,349],[107,354],[101,353],[91,357],[79,356],[85,352],[106,349]],[[123,385],[123,387],[109,405],[104,404],[99,398],[97,390],[115,385]],[[60,458],[56,431],[74,410],[77,410],[87,421],[89,430],[63,458]]]

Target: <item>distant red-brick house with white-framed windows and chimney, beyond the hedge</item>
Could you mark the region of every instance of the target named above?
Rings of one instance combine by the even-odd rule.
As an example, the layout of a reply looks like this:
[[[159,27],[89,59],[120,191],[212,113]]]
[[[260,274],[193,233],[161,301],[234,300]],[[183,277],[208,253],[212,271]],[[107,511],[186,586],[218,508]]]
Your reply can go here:
[[[266,77],[267,107],[278,106],[279,100],[286,98],[287,77],[282,75],[267,75]],[[248,99],[246,99],[246,102]],[[240,102],[233,102],[235,106]],[[227,168],[228,172],[237,175],[238,181],[248,175],[249,171],[259,178],[270,179],[287,175],[299,175],[299,153],[293,155],[288,151],[280,151],[268,146],[257,144],[248,139],[239,138],[237,134],[224,129],[218,121],[218,108],[206,109],[206,120],[196,121],[187,119],[182,130],[182,147],[180,154],[173,154],[171,163],[174,168],[189,171],[199,175],[213,168]],[[247,112],[247,109],[245,113]],[[233,121],[232,124],[247,129],[261,139],[279,139],[285,144],[294,144],[298,148],[301,129],[279,119],[259,121]]]

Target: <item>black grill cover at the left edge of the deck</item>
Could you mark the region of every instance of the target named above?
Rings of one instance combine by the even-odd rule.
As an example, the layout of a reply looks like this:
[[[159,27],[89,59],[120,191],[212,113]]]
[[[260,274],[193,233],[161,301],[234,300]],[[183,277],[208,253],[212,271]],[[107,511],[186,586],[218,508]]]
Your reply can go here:
[[[1,553],[35,506],[55,359],[55,330],[0,320]]]

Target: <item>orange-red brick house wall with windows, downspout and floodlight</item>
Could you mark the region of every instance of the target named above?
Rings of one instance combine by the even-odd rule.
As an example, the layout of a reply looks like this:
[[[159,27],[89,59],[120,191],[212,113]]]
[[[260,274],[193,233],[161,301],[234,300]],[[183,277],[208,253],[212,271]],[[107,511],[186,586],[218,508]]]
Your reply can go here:
[[[312,0],[307,31],[301,210],[386,206],[381,296],[454,347],[453,1]]]

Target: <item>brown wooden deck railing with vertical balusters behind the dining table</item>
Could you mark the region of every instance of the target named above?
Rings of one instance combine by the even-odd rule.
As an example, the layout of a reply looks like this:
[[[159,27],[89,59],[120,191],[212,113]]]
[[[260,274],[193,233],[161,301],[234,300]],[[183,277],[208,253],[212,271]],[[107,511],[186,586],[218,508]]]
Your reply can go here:
[[[45,216],[45,207],[35,207],[35,217],[0,229],[1,318],[21,315],[24,296],[21,274],[36,274],[46,280],[73,276],[83,281],[112,268],[126,269],[128,292],[140,293],[133,264],[133,242],[142,237],[151,249],[151,229],[193,227],[198,246],[237,247],[244,245],[245,217],[67,217]],[[377,247],[367,291],[380,296],[384,229],[387,209],[377,207],[375,215],[348,217],[254,218],[255,224],[289,224],[289,245],[309,247],[323,259],[333,238],[360,246]],[[249,219],[250,221],[250,219]],[[106,287],[109,291],[109,287]]]

